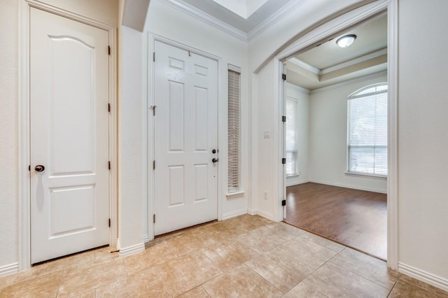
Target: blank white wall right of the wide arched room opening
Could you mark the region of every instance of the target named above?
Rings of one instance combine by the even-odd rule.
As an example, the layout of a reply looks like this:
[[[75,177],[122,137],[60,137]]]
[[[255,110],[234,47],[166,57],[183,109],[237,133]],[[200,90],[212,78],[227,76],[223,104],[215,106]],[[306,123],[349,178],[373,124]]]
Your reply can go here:
[[[448,290],[448,1],[399,8],[399,262]]]

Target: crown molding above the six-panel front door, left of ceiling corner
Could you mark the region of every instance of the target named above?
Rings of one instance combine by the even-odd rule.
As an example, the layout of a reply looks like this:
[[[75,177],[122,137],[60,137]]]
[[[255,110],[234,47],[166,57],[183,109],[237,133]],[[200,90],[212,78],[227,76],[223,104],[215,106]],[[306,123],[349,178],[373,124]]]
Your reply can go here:
[[[241,41],[248,41],[247,34],[228,23],[225,23],[221,20],[218,20],[216,17],[209,15],[208,13],[204,13],[202,10],[195,8],[195,6],[191,6],[188,3],[185,3],[180,0],[160,0],[162,3],[167,4],[168,6],[172,6],[177,10],[180,10],[191,17],[194,17],[196,20],[200,20],[206,24],[209,24],[216,29],[219,29],[231,36],[241,39]]]

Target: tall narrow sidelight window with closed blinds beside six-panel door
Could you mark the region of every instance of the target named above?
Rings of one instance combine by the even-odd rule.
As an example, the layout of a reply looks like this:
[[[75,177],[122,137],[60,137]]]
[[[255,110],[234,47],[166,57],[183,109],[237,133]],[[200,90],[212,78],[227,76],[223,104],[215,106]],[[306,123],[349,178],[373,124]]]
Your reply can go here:
[[[240,191],[240,97],[241,71],[229,65],[228,70],[228,193]]]

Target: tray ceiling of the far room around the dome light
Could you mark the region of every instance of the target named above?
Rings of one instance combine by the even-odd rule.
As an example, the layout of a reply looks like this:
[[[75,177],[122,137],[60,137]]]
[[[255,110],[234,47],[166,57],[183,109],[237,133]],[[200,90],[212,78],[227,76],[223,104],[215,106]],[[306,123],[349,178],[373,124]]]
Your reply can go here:
[[[337,38],[355,34],[348,48]],[[289,83],[314,90],[387,70],[387,15],[379,15],[286,62]]]

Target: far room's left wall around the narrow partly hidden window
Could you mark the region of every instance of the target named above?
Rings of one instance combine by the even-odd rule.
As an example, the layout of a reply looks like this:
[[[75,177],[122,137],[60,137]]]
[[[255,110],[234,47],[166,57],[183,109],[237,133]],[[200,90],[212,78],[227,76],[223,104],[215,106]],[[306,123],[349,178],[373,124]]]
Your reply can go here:
[[[309,90],[285,83],[285,97],[297,101],[298,175],[286,177],[286,186],[291,186],[309,182]]]

